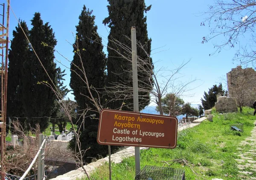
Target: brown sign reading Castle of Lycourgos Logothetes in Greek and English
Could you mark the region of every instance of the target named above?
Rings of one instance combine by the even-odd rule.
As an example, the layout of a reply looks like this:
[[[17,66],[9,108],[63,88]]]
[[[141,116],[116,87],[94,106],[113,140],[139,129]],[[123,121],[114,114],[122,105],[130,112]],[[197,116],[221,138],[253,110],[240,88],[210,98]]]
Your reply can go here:
[[[104,109],[97,142],[103,145],[175,148],[178,120],[173,116]]]

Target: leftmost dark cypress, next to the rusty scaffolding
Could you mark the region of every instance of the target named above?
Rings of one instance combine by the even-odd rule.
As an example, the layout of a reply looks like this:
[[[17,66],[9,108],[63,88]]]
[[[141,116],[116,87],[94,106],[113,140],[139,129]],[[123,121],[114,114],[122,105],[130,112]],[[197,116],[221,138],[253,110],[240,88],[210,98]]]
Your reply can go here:
[[[21,26],[21,27],[20,27]],[[29,54],[29,42],[26,39],[25,34],[28,36],[29,30],[26,22],[20,21],[20,26],[17,26],[12,34],[13,39],[9,50],[9,66],[8,66],[8,87],[7,87],[7,116],[13,120],[23,117],[22,106],[22,83],[21,83],[21,70],[23,69],[23,63],[28,59]],[[23,31],[22,31],[23,29]],[[9,119],[9,118],[7,118]],[[24,118],[18,119],[24,127]]]

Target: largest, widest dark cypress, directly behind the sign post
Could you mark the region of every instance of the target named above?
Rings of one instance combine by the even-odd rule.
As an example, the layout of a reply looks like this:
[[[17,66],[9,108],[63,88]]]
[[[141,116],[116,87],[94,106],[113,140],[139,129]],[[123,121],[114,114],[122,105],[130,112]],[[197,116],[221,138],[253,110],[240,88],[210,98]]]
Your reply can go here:
[[[146,89],[149,92],[152,89],[150,86],[152,83],[152,73],[148,72],[152,72],[153,67],[152,59],[149,58],[151,53],[151,39],[148,39],[147,18],[144,16],[144,12],[149,11],[151,5],[146,7],[144,0],[108,0],[108,3],[109,16],[103,20],[103,23],[105,25],[108,24],[110,28],[107,48],[107,86],[111,87],[114,83],[121,83],[123,86],[132,88],[132,64],[120,56],[120,54],[126,56],[125,53],[127,52],[121,47],[116,47],[111,40],[116,39],[124,45],[131,47],[131,41],[127,37],[131,37],[131,27],[135,26],[137,41],[141,43],[144,49],[137,48],[137,56],[140,56],[140,58],[144,60],[143,68],[138,68],[138,87],[139,89]],[[121,90],[122,96],[119,100],[111,101],[115,99],[115,97],[109,97],[111,103],[109,103],[108,106],[111,109],[120,108],[121,106],[123,106],[122,110],[132,109],[133,98],[132,96],[127,98],[128,95],[124,93],[125,90],[127,90],[127,88]],[[140,109],[143,109],[149,104],[150,97],[148,92],[139,91]]]

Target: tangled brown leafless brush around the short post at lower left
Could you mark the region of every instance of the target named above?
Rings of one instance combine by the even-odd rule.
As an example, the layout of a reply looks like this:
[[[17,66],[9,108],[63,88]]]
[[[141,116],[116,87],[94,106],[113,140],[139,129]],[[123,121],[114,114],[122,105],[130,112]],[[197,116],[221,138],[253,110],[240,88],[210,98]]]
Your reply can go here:
[[[8,174],[22,176],[38,152],[38,135],[40,134],[40,127],[38,124],[36,129],[30,127],[29,133],[27,135],[19,121],[12,121],[12,124],[12,130],[15,135],[18,136],[19,141],[17,144],[9,144],[7,146],[6,172]],[[47,141],[44,146],[45,161],[52,159],[52,157],[54,157],[54,160],[66,160],[71,156],[72,153],[61,149],[60,144],[52,147],[52,141]],[[58,166],[60,165],[61,163],[58,164]],[[45,169],[48,171],[48,173],[51,173],[52,166],[46,165]],[[33,165],[32,170],[28,173],[28,176],[33,174],[37,174],[37,163]]]

